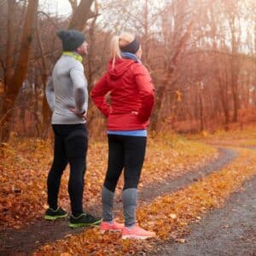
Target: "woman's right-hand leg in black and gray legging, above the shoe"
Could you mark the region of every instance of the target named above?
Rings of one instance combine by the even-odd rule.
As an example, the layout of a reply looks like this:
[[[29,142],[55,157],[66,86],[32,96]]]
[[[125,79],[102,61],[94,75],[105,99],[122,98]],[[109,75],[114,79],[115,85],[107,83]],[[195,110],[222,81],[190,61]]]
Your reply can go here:
[[[126,227],[131,227],[135,224],[137,184],[143,168],[146,143],[147,137],[125,138],[125,186],[123,191],[123,205]]]

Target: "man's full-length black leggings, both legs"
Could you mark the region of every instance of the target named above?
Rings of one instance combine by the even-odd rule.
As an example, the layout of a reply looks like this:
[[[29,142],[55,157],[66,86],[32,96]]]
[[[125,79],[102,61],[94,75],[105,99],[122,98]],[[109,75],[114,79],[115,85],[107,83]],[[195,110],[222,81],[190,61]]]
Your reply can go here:
[[[49,207],[58,206],[61,176],[67,163],[70,164],[68,194],[72,213],[83,212],[84,173],[86,170],[87,129],[84,124],[52,125],[55,133],[54,160],[50,168],[47,188]]]

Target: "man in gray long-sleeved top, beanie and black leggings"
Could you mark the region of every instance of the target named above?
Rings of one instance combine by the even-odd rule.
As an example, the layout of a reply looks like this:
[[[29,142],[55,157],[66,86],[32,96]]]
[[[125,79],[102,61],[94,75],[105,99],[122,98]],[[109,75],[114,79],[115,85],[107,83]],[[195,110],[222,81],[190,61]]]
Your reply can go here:
[[[44,218],[67,217],[67,212],[58,206],[58,193],[62,173],[69,163],[68,193],[72,209],[69,227],[76,228],[101,223],[101,218],[83,212],[88,91],[81,62],[82,55],[87,54],[88,44],[84,34],[76,30],[60,31],[57,36],[61,38],[63,54],[55,63],[46,88],[49,108],[53,111],[51,123],[55,133],[55,148],[47,178],[49,209]]]

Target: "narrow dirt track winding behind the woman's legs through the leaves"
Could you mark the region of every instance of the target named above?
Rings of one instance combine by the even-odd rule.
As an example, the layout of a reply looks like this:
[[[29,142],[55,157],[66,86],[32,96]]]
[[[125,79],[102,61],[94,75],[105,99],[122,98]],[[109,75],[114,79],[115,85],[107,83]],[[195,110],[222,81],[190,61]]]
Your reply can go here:
[[[189,172],[182,177],[177,177],[174,180],[167,179],[164,183],[155,183],[154,187],[152,184],[143,187],[143,189],[139,191],[139,201],[148,203],[159,195],[182,189],[189,183],[193,183],[211,172],[222,169],[237,156],[237,152],[231,149],[218,148],[218,150],[220,151],[220,157],[210,162],[207,166]],[[120,199],[117,198],[116,201],[117,208],[120,209],[122,207]],[[95,212],[96,214],[101,214],[100,211],[100,205],[90,209],[90,212]],[[67,227],[67,220],[59,220],[57,222],[39,220],[21,230],[1,230],[0,255],[14,255],[15,253],[27,255],[44,244],[62,239],[71,233],[80,233],[84,229],[70,230]]]

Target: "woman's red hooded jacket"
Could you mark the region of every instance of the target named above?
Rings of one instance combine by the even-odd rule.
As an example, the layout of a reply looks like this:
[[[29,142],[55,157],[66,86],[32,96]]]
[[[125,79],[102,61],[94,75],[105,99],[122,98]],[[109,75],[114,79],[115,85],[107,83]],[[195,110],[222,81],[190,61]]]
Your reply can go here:
[[[110,92],[111,105],[106,102]],[[146,67],[130,59],[112,60],[91,91],[96,107],[108,118],[109,131],[146,129],[154,105],[154,86]]]

